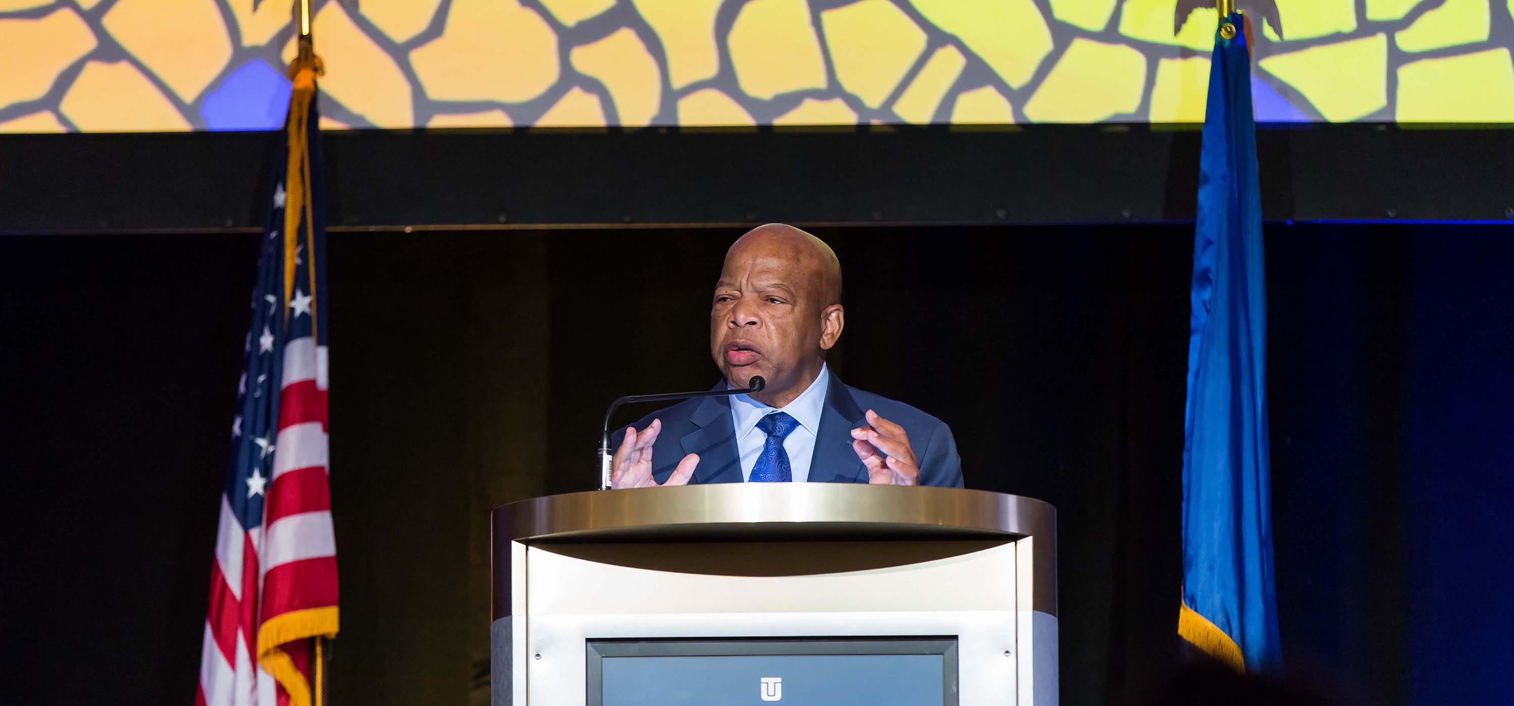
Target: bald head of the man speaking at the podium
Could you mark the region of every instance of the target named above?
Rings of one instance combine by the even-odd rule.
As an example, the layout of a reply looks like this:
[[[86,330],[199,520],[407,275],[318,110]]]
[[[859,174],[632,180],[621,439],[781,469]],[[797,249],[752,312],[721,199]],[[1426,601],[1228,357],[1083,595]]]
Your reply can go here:
[[[842,336],[842,266],[836,252],[799,228],[752,228],[725,252],[710,307],[710,354],[733,387],[762,375],[755,398],[783,407],[825,366]]]

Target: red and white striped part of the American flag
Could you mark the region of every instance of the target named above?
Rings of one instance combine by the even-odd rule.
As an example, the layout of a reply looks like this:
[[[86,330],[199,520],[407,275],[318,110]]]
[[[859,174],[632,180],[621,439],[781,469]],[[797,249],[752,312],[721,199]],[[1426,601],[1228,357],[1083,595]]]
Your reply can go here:
[[[285,346],[279,435],[263,525],[245,531],[221,499],[210,609],[197,706],[288,701],[256,667],[257,626],[276,615],[336,605],[336,540],[327,469],[327,351],[310,337]],[[298,650],[309,677],[309,653]],[[294,655],[291,655],[294,656]]]

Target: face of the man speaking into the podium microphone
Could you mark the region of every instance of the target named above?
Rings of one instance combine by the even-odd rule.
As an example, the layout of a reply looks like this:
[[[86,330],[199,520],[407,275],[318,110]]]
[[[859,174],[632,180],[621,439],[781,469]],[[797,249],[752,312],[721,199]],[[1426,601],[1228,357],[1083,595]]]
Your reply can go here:
[[[822,351],[834,345],[824,331],[831,302],[819,301],[819,268],[802,255],[781,240],[737,245],[725,255],[710,307],[710,355],[727,382],[748,387],[762,375],[768,390],[760,396],[778,404],[802,392],[795,387],[813,379]]]

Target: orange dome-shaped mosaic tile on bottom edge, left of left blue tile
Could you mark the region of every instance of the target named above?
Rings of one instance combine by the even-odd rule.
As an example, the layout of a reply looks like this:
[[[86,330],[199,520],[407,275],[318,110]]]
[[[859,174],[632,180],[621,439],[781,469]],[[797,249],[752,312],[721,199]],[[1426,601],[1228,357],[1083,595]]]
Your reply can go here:
[[[188,130],[157,86],[130,62],[89,62],[59,103],[64,116],[85,132]]]

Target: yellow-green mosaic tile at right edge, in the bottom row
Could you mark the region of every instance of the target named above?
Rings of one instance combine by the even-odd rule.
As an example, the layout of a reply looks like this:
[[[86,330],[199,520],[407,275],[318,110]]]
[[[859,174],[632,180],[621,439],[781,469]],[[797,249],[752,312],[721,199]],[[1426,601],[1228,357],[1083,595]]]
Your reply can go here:
[[[1514,122],[1509,50],[1405,63],[1397,101],[1400,122]]]

